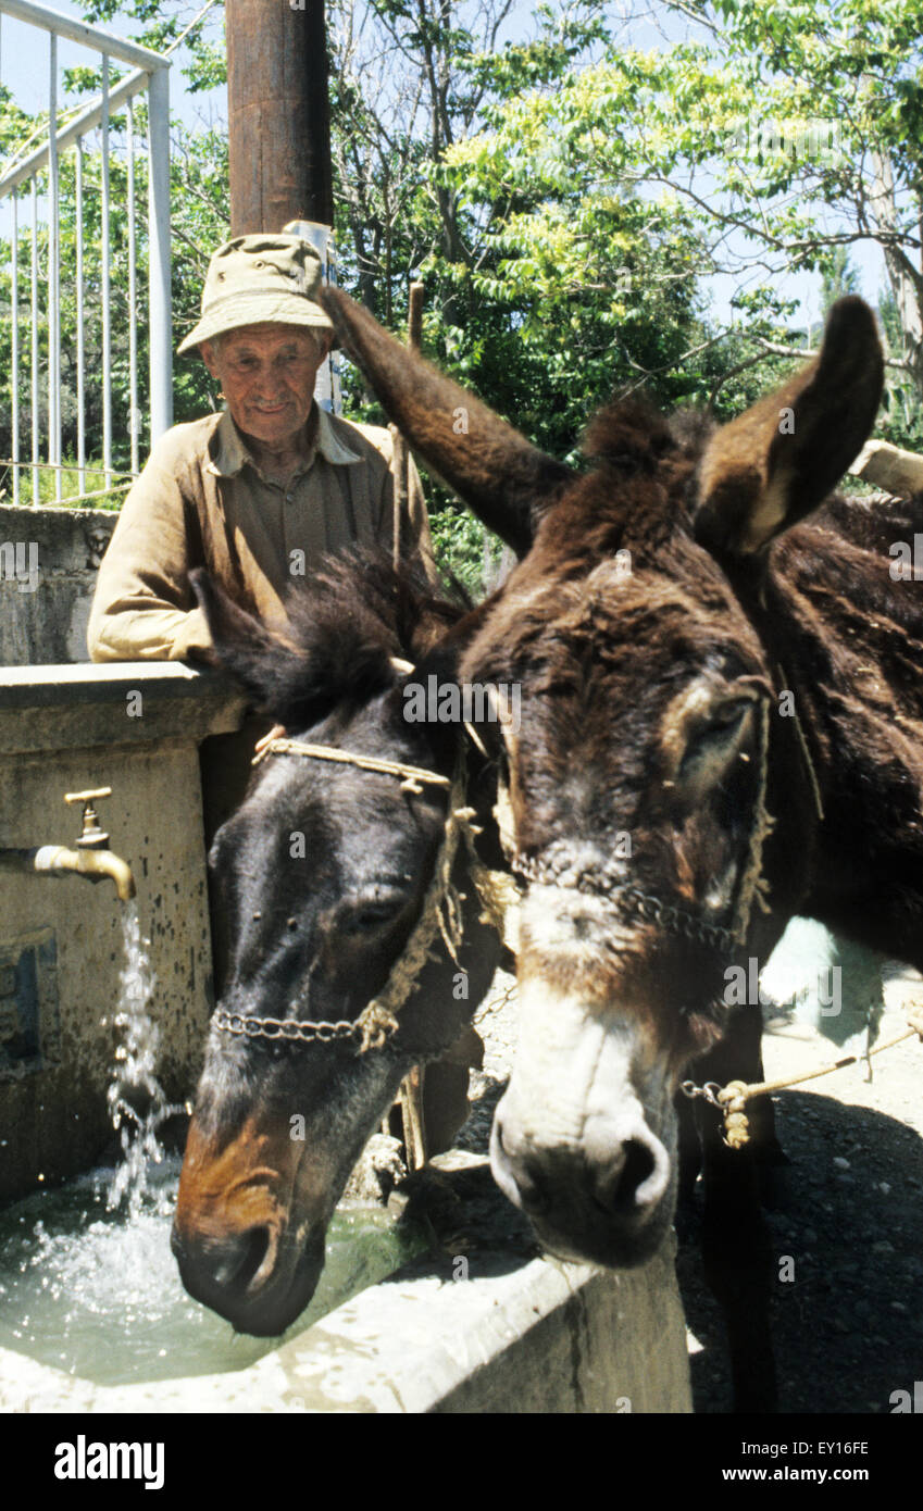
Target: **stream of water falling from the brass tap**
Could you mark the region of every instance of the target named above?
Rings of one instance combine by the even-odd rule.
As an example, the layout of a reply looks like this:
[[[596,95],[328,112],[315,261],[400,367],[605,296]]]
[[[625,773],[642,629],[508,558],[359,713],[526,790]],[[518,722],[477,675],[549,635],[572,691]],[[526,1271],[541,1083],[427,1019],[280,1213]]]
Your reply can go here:
[[[137,902],[130,902],[122,914],[125,964],[119,973],[119,1006],[115,1023],[124,1031],[115,1052],[112,1082],[106,1092],[112,1126],[122,1142],[122,1163],[107,1192],[107,1206],[122,1203],[128,1216],[140,1216],[150,1189],[151,1165],[163,1159],[157,1132],[168,1118],[183,1112],[171,1106],[157,1080],[157,1050],[160,1029],[151,1015],[157,979],[151,972],[148,949],[142,938]]]

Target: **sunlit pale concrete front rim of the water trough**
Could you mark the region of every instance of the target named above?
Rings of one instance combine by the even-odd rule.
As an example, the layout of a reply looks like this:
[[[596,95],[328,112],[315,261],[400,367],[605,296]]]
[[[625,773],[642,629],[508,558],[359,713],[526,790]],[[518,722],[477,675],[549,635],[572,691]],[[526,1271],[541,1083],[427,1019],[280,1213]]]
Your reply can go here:
[[[0,1411],[684,1413],[672,1248],[625,1274],[418,1260],[249,1367],[104,1387],[0,1349]]]

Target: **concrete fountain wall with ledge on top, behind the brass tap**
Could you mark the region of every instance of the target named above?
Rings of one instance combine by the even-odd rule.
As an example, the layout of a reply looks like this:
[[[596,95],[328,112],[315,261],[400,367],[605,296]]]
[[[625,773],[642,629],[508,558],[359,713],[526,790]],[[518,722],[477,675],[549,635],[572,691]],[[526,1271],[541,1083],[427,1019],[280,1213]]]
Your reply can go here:
[[[112,787],[100,822],[134,872],[174,1102],[213,1006],[198,742],[240,712],[225,681],[181,665],[0,669],[0,848],[73,846],[65,792]],[[0,1200],[86,1170],[110,1136],[122,963],[110,881],[0,873]]]

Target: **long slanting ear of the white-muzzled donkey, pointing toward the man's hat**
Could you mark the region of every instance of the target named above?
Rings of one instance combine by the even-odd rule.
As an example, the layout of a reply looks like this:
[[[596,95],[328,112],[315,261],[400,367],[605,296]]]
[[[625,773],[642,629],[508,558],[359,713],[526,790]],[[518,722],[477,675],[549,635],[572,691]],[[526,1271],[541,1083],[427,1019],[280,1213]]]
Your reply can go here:
[[[488,529],[524,556],[542,514],[573,482],[571,468],[402,346],[340,289],[322,290],[320,304],[414,450]]]

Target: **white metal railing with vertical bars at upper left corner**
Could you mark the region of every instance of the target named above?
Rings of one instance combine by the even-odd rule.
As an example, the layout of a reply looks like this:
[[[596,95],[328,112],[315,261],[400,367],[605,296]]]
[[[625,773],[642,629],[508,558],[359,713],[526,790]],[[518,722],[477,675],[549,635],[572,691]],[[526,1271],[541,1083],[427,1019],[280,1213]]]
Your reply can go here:
[[[86,414],[91,399],[88,387],[88,352],[86,352],[86,311],[85,298],[88,293],[86,266],[91,239],[88,237],[86,216],[86,138],[100,133],[100,234],[98,234],[98,269],[100,269],[100,325],[101,325],[101,376],[100,391],[95,394],[101,408],[101,470],[109,487],[113,480],[113,402],[112,402],[112,139],[110,122],[116,110],[125,113],[125,216],[127,216],[127,355],[128,355],[128,431],[130,431],[130,468],[139,470],[140,444],[140,408],[137,382],[137,205],[136,205],[136,110],[137,95],[147,94],[147,168],[148,168],[148,216],[147,216],[147,254],[148,254],[148,331],[150,331],[150,379],[148,379],[148,416],[150,440],[154,441],[172,423],[172,320],[171,320],[171,281],[169,281],[169,60],[159,53],[112,36],[95,26],[88,26],[71,17],[59,15],[47,6],[33,5],[32,0],[0,0],[0,29],[3,20],[9,17],[15,21],[29,23],[48,33],[48,127],[47,139],[38,147],[32,147],[32,139],[23,144],[21,153],[12,162],[0,165],[0,212],[8,207],[11,227],[11,346],[12,346],[12,416],[11,416],[11,456],[0,459],[6,462],[8,473],[12,473],[12,500],[20,502],[21,473],[32,473],[32,502],[39,500],[39,473],[48,470],[54,477],[54,497],[62,499],[62,479],[68,471],[76,471],[79,477],[77,496],[86,494],[86,473],[92,465],[86,456]],[[79,106],[69,112],[69,119],[63,121],[59,110],[59,38],[66,38],[95,54],[95,62],[101,63],[103,88],[98,98],[89,106]],[[110,60],[127,63],[131,68],[124,79],[110,83]],[[3,77],[3,30],[0,30],[0,83]],[[74,225],[74,329],[62,332],[60,322],[60,165],[62,157],[73,148],[74,151],[74,187],[73,202],[68,205]],[[44,199],[44,216],[39,201]],[[20,225],[20,210],[27,205],[27,228]],[[41,459],[41,343],[39,328],[42,323],[39,308],[39,287],[42,269],[39,258],[39,239],[42,225],[47,236],[47,258],[44,267],[45,299],[47,299],[47,417],[45,417],[45,450],[47,461]],[[21,326],[23,319],[21,295],[24,293],[20,277],[21,237],[29,243],[29,378],[24,372],[24,352]],[[62,458],[62,346],[71,345],[76,393],[76,462],[65,462]],[[30,402],[30,453],[29,459],[21,455],[23,444],[23,391],[29,391]],[[125,476],[125,473],[119,473]]]

